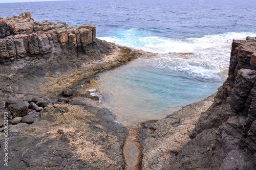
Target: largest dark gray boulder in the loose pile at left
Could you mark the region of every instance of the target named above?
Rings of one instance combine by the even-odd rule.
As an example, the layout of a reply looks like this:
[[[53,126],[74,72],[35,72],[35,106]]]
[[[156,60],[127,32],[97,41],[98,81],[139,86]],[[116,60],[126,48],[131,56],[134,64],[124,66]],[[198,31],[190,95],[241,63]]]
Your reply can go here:
[[[13,117],[21,117],[28,114],[28,106],[19,98],[8,98],[5,108],[11,112]]]

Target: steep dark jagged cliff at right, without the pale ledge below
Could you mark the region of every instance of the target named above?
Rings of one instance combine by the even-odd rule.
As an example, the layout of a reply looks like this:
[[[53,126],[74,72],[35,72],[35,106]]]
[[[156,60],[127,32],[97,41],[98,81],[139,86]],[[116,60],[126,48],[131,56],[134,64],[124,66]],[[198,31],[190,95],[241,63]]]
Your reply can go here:
[[[256,39],[234,40],[228,78],[201,114],[173,169],[254,169]]]

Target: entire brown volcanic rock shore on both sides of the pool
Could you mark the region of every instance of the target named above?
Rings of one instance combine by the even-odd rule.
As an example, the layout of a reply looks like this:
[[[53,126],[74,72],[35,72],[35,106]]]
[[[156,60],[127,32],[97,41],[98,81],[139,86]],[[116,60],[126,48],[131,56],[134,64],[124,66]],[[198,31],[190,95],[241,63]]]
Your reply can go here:
[[[0,17],[0,157],[4,169],[253,169],[256,165],[256,39],[232,43],[229,77],[216,94],[133,133],[79,89],[139,51],[96,39],[91,24]],[[89,98],[88,98],[89,97]],[[92,98],[92,97],[91,97]],[[135,155],[137,157],[137,155]]]

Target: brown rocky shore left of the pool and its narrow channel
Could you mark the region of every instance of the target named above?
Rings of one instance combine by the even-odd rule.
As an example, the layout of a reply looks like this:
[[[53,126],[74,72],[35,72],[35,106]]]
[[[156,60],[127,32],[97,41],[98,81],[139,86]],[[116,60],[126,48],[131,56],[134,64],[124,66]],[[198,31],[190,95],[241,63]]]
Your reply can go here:
[[[1,19],[0,109],[1,120],[8,112],[9,157],[0,167],[124,169],[126,128],[76,88],[140,53],[96,39],[90,24],[34,22],[29,12]],[[1,124],[1,162],[4,138]]]

